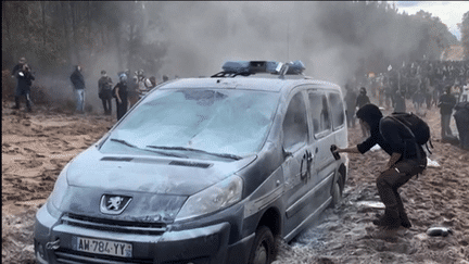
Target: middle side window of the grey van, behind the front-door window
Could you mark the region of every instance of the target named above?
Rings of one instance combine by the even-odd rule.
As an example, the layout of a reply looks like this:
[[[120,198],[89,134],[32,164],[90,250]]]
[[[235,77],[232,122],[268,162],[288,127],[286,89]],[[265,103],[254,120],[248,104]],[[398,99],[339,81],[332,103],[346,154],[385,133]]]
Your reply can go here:
[[[308,98],[315,135],[329,130],[331,128],[331,121],[326,95],[324,92],[314,91],[309,92]]]

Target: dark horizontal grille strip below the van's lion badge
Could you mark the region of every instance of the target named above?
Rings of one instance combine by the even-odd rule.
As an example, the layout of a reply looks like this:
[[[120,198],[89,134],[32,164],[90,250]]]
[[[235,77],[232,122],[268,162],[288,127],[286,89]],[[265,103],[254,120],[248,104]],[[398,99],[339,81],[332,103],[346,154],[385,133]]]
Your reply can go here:
[[[61,219],[66,225],[104,231],[142,235],[162,235],[166,231],[166,224],[164,223],[118,221],[71,213],[63,215]]]

